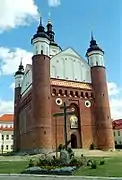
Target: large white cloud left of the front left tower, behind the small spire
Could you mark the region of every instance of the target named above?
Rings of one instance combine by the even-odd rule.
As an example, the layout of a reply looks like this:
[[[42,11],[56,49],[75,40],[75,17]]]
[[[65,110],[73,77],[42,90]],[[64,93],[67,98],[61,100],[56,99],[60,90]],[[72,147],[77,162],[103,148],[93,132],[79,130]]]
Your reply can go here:
[[[23,65],[31,64],[32,53],[21,48],[9,49],[0,47],[0,70],[1,75],[15,73],[22,58]]]

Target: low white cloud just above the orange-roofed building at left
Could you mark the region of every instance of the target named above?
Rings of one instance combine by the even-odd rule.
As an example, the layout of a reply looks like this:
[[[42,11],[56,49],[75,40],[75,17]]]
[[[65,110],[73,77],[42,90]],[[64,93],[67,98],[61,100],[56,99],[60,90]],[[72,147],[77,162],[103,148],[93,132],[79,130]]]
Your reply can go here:
[[[4,101],[0,99],[0,115],[13,113],[14,112],[14,102]]]

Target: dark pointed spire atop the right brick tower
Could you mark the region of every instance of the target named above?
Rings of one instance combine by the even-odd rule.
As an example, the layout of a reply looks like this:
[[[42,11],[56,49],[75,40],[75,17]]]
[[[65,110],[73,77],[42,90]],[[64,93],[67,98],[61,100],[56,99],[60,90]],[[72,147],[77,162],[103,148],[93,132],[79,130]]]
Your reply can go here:
[[[87,53],[91,51],[101,51],[102,53],[104,53],[104,51],[98,46],[96,40],[94,39],[93,31],[91,31],[90,47],[88,48]]]

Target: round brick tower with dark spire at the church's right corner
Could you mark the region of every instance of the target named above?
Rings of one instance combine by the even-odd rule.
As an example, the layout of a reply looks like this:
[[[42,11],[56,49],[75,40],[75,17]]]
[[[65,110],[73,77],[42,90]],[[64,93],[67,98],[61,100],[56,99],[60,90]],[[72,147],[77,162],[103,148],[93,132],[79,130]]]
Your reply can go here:
[[[102,150],[114,149],[112,120],[109,107],[104,51],[91,36],[86,56],[91,66],[91,79],[95,92],[95,119],[97,147]]]

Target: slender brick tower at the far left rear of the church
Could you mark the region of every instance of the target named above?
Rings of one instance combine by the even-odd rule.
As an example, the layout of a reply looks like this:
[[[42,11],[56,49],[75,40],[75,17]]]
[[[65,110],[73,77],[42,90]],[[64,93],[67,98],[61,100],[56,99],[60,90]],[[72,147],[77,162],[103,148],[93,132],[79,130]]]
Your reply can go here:
[[[15,94],[14,94],[14,151],[19,151],[19,101],[21,98],[21,85],[24,76],[24,67],[20,62],[18,71],[15,73]]]

